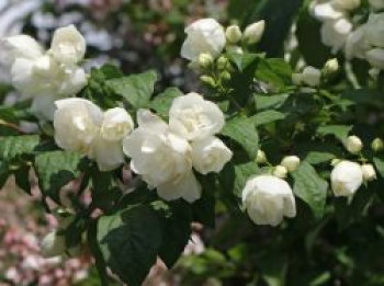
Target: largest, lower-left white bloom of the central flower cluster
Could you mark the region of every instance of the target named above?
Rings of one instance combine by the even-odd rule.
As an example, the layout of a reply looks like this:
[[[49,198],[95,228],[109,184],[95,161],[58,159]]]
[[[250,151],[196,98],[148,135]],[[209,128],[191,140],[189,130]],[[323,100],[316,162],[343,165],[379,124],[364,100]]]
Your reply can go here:
[[[189,142],[148,110],[137,112],[137,122],[138,128],[123,140],[132,170],[163,199],[199,199],[201,186],[192,172]]]

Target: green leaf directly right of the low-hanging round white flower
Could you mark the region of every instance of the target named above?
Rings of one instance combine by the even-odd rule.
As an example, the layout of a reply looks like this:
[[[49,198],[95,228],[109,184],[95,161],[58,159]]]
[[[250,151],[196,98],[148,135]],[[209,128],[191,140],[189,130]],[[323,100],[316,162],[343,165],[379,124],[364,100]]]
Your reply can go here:
[[[292,173],[295,181],[293,192],[312,209],[316,219],[324,215],[328,183],[307,162],[302,162]]]

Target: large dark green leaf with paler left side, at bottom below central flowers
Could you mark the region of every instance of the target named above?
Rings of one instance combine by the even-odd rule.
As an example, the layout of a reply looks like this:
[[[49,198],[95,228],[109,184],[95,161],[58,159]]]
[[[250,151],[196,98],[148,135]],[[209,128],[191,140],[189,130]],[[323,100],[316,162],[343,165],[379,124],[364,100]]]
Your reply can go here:
[[[161,245],[160,220],[148,205],[101,217],[98,241],[105,263],[124,283],[139,286]]]

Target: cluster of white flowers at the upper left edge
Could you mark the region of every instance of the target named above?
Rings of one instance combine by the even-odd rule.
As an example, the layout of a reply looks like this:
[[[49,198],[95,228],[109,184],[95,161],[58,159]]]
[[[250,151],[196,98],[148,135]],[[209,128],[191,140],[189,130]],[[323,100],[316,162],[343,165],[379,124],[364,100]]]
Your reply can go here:
[[[75,95],[87,84],[87,75],[78,64],[86,54],[86,41],[74,26],[55,31],[50,48],[44,48],[27,35],[0,41],[0,60],[9,69],[12,84],[32,98],[32,111],[53,119],[56,100]]]

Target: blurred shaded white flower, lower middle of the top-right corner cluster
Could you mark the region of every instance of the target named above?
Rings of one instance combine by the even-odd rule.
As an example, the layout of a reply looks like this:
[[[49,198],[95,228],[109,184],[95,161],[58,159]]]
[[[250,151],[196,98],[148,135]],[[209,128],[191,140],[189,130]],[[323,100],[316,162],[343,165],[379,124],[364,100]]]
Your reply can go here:
[[[347,59],[351,58],[365,58],[365,53],[370,48],[370,43],[365,36],[365,25],[359,26],[351,34],[348,35],[346,42],[346,57]]]

